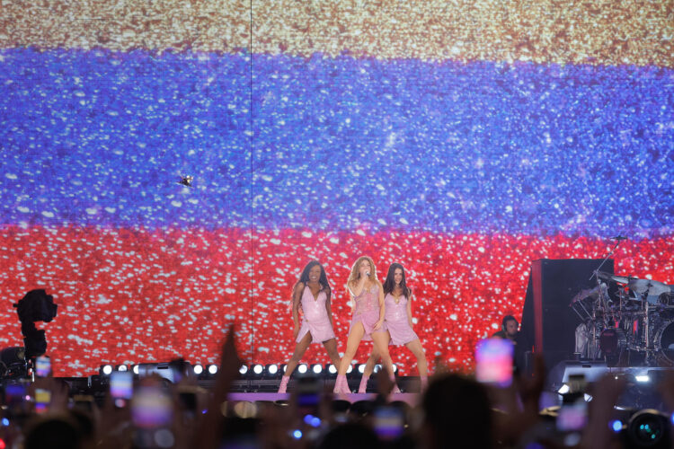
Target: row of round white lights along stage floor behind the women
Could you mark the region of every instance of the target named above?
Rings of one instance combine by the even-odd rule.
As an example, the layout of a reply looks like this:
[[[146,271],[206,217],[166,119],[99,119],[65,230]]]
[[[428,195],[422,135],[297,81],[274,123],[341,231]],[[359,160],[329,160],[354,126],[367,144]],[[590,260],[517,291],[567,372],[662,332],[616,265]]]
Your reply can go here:
[[[166,365],[166,364],[164,364]],[[141,371],[141,365],[101,365],[99,369],[99,374],[103,376],[109,376],[113,371],[131,371],[133,374],[139,375]],[[283,365],[242,365],[239,368],[239,374],[242,379],[279,379],[283,374],[286,373],[286,364]],[[381,370],[381,365],[375,365],[375,373],[378,373]],[[202,378],[215,377],[219,367],[217,365],[191,365],[192,372]],[[347,370],[347,375],[356,375],[360,376],[365,371],[364,364],[353,364],[349,365]],[[394,365],[394,372],[397,374],[398,367]],[[316,375],[323,377],[336,377],[337,376],[337,367],[333,364],[321,365],[321,364],[299,364],[296,368],[297,375]]]

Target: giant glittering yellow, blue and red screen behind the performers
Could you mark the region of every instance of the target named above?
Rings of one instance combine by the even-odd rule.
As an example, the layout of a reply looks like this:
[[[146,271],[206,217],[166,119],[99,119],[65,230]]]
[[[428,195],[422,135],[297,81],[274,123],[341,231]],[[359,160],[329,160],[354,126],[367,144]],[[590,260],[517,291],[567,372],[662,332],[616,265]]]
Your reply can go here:
[[[602,258],[620,234],[616,272],[674,284],[671,16],[665,0],[4,2],[0,345],[22,344],[13,304],[46,288],[58,375],[216,362],[231,322],[246,362],[283,363],[290,291],[319,260],[343,351],[344,284],[369,255],[382,280],[407,269],[431,369],[470,371],[475,342],[521,316],[532,260]]]

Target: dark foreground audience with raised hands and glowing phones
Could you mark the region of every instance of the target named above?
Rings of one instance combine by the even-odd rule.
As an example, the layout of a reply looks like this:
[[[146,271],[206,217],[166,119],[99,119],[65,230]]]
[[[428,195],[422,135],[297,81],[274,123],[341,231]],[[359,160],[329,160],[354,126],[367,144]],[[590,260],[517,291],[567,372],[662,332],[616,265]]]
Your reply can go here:
[[[232,326],[222,345],[221,369],[210,390],[193,376],[179,383],[159,377],[136,381],[133,397],[120,406],[109,398],[102,407],[68,392],[55,378],[31,383],[24,401],[6,394],[4,448],[611,448],[671,447],[670,415],[621,410],[616,401],[625,379],[611,375],[590,385],[587,418],[581,427],[560,430],[554,410],[539,409],[545,384],[542,358],[533,373],[519,375],[510,387],[478,383],[438,365],[417,404],[396,400],[394,383],[382,370],[376,399],[346,401],[322,382],[298,381],[288,401],[227,401],[242,365]],[[50,392],[49,408],[38,412],[38,390]],[[664,376],[661,396],[674,405],[674,377]],[[398,398],[399,399],[399,398]],[[584,401],[584,400],[583,400]],[[563,406],[562,406],[563,407]],[[640,415],[641,414],[641,415]],[[630,428],[630,422],[636,422]],[[617,423],[617,424],[616,424]],[[641,423],[641,424],[639,424]],[[619,424],[619,426],[618,426]],[[634,426],[632,426],[634,427]]]

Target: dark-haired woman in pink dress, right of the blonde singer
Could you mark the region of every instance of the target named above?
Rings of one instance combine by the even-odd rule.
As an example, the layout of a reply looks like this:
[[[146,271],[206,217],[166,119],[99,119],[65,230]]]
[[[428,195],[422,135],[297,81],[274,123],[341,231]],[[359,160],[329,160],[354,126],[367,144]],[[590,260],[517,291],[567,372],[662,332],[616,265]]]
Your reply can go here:
[[[405,283],[405,270],[401,264],[393,263],[388,268],[386,281],[384,281],[384,295],[386,295],[384,298],[384,304],[386,304],[384,323],[390,335],[391,343],[395,346],[406,346],[412,351],[414,357],[417,357],[421,390],[424,390],[429,382],[429,367],[426,363],[426,355],[421,347],[421,341],[412,330],[412,290]],[[365,371],[362,379],[360,379],[358,392],[366,392],[369,376],[372,374],[378,358],[377,348],[373,348],[368,362],[365,364]]]

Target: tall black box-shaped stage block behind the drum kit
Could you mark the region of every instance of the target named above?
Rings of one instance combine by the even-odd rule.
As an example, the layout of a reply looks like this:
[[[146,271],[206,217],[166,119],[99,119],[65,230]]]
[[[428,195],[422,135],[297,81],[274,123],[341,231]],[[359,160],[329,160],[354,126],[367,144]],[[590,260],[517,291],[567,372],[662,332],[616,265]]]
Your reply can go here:
[[[531,264],[521,332],[528,348],[543,353],[548,369],[572,356],[581,319],[573,312],[571,300],[582,289],[597,286],[597,279],[590,277],[601,261],[540,259]],[[609,259],[601,271],[613,274],[613,267]]]

